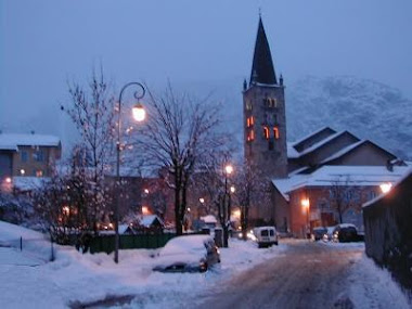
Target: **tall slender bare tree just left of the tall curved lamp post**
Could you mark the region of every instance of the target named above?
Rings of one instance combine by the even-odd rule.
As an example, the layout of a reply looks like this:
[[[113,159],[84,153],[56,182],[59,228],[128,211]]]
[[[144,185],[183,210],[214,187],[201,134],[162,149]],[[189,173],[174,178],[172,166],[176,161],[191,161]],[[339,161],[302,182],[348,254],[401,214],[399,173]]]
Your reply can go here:
[[[88,87],[83,88],[73,82],[68,92],[72,104],[66,111],[80,133],[81,147],[88,159],[88,172],[91,173],[87,186],[92,192],[92,198],[85,203],[88,203],[87,207],[92,210],[92,226],[96,232],[99,217],[107,207],[103,181],[113,155],[115,100],[102,69],[99,75],[93,72]]]

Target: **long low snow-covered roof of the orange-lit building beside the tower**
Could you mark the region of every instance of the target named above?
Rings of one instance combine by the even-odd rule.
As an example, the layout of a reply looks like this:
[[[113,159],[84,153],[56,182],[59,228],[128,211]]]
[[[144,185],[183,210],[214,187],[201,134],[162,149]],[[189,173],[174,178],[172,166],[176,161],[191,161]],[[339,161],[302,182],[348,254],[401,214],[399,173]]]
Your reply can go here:
[[[408,173],[410,167],[394,166],[389,171],[385,166],[323,166],[310,175],[292,175],[285,179],[273,179],[273,185],[287,201],[291,191],[305,186],[375,186],[383,182],[396,183]]]

